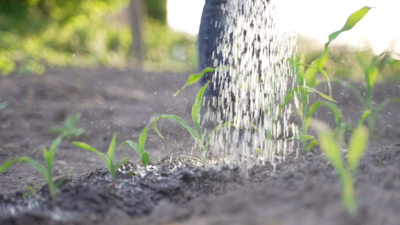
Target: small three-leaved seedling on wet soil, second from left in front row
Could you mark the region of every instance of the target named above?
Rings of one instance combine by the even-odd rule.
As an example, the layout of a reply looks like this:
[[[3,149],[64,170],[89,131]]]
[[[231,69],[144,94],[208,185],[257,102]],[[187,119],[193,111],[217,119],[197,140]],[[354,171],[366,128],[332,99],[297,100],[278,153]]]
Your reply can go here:
[[[87,151],[91,151],[93,153],[96,153],[96,155],[100,156],[104,162],[104,164],[106,165],[108,171],[110,172],[110,175],[112,177],[112,187],[115,188],[115,177],[116,177],[116,173],[118,168],[124,164],[126,161],[129,160],[129,157],[125,157],[124,159],[122,159],[122,161],[120,163],[117,163],[114,166],[114,152],[115,152],[115,144],[116,144],[116,134],[114,133],[114,135],[112,136],[112,140],[110,143],[110,146],[108,147],[108,157],[106,154],[101,153],[99,151],[97,151],[97,149],[91,147],[90,145],[83,143],[83,142],[78,142],[78,141],[74,141],[72,142],[73,145],[76,145],[82,149],[85,149]]]

